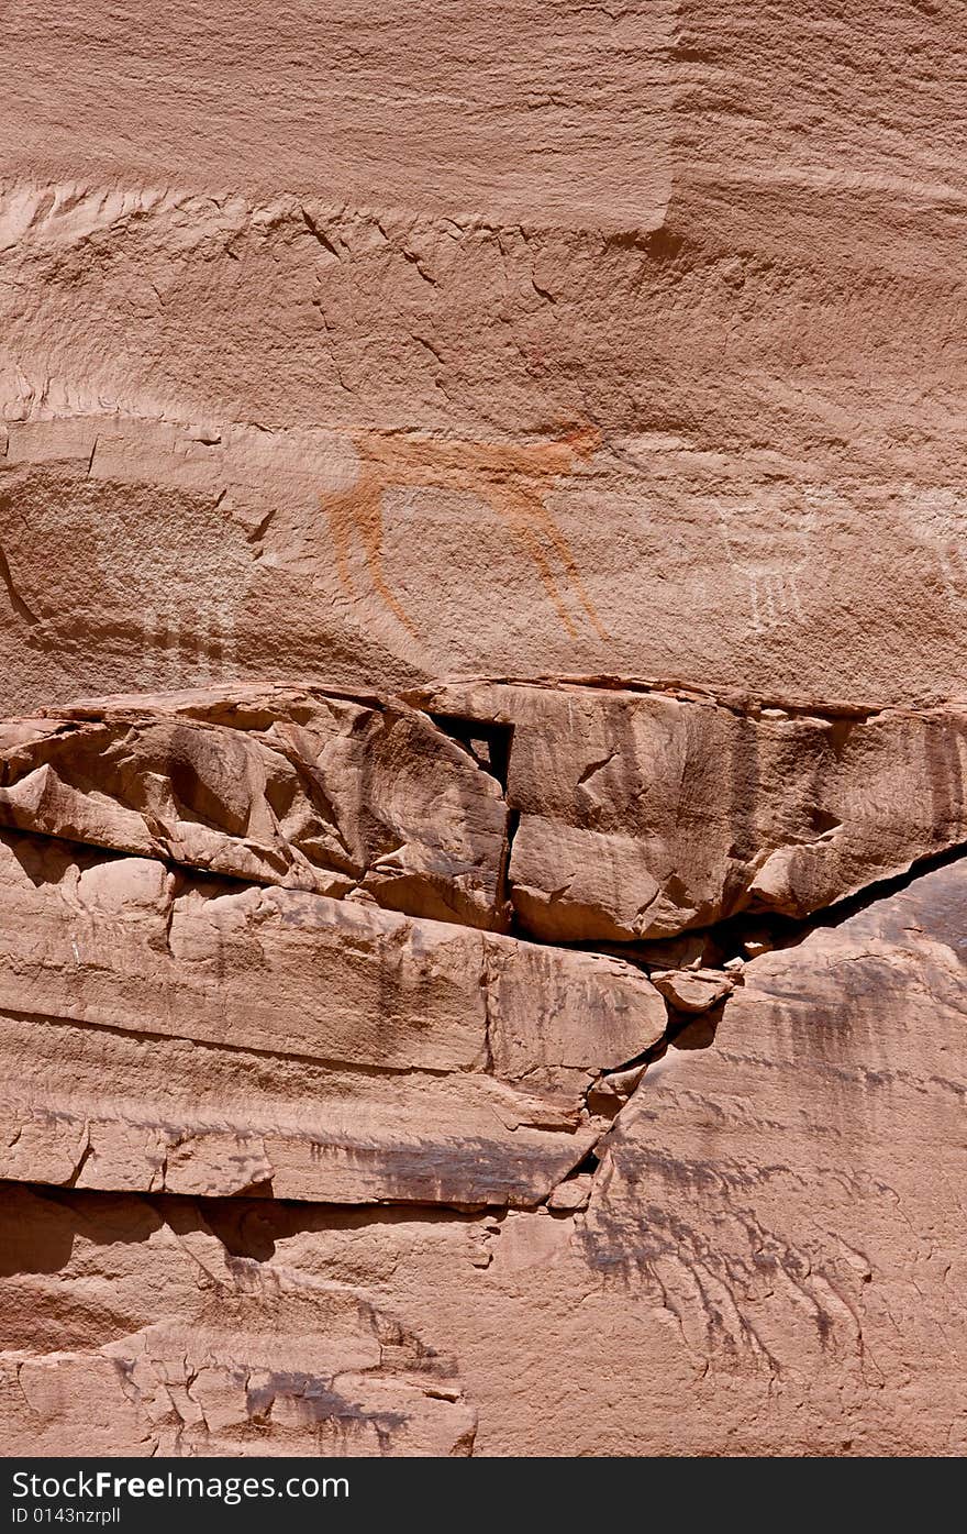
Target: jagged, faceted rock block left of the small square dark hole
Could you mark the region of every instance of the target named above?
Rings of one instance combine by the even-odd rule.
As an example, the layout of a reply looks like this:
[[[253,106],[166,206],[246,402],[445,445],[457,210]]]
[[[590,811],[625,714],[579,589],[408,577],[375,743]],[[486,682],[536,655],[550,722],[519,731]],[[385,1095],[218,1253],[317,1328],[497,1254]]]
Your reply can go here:
[[[0,727],[0,825],[506,925],[501,787],[398,701],[215,689],[80,704]]]

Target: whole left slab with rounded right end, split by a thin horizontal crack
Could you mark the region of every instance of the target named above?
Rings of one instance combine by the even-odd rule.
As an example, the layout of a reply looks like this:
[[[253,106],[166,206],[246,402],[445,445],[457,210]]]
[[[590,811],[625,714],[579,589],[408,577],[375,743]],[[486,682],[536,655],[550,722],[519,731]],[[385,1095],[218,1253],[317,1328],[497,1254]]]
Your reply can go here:
[[[0,1175],[536,1204],[664,1032],[633,966],[0,838]]]

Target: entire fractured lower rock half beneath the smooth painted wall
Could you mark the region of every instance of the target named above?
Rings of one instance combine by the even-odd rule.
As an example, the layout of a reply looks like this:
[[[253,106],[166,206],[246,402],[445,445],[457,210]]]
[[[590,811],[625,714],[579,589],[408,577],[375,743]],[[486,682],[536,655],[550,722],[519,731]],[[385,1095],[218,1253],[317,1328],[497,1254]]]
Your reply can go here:
[[[955,1451],[962,732],[576,684],[8,721],[0,1442]]]

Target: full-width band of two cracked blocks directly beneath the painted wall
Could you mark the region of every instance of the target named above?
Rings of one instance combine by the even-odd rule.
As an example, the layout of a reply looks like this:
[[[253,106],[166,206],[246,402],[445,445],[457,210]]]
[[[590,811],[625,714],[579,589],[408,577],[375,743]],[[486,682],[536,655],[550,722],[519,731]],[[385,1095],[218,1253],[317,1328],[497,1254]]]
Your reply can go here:
[[[512,905],[526,934],[599,943],[803,917],[967,842],[967,709],[415,701],[208,690],[9,721],[0,825],[472,927]]]

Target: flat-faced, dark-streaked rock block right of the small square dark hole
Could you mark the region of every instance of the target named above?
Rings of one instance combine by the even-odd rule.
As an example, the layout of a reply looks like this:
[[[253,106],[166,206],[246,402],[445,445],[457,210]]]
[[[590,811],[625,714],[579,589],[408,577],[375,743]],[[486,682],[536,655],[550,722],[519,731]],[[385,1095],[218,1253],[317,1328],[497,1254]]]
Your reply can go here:
[[[578,684],[417,696],[513,729],[513,905],[547,942],[803,917],[967,842],[964,709],[788,713]]]

